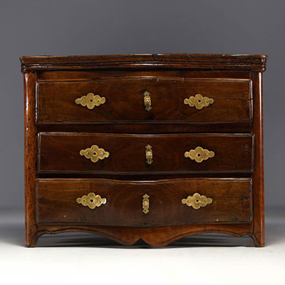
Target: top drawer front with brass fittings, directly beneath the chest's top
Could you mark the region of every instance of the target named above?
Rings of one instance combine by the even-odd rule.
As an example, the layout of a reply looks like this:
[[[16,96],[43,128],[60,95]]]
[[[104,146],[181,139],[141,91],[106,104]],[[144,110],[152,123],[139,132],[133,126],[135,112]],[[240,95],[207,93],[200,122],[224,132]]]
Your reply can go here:
[[[252,120],[247,79],[38,81],[37,90],[37,123]]]

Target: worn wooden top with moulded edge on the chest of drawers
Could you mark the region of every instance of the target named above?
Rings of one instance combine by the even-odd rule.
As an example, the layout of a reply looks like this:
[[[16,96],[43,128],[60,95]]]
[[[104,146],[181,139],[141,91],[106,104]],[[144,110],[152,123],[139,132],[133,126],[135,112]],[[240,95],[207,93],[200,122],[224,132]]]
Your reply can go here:
[[[265,71],[265,55],[164,53],[103,56],[21,56],[23,72],[90,68],[178,68]]]

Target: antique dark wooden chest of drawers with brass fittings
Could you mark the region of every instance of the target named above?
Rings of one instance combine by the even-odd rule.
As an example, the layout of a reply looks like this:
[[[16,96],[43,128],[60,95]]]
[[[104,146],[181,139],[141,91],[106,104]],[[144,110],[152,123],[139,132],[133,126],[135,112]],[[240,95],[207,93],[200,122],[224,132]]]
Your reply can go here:
[[[26,246],[93,232],[264,246],[266,56],[21,57]]]

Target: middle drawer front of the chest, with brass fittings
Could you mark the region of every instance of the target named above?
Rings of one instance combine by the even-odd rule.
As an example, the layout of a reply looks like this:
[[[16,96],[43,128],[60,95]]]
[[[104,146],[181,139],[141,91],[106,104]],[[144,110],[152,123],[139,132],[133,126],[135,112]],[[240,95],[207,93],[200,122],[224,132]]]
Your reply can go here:
[[[252,172],[252,135],[40,133],[38,172]]]

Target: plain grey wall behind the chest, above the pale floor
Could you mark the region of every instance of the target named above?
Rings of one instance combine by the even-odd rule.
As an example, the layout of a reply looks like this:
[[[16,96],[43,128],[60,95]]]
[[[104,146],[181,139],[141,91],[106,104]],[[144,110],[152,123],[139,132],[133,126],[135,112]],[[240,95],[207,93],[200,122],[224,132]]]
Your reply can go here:
[[[24,208],[19,56],[256,53],[264,73],[267,206],[284,206],[285,1],[0,0],[0,209]]]

